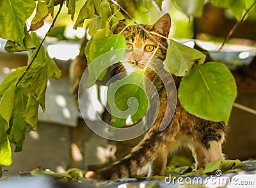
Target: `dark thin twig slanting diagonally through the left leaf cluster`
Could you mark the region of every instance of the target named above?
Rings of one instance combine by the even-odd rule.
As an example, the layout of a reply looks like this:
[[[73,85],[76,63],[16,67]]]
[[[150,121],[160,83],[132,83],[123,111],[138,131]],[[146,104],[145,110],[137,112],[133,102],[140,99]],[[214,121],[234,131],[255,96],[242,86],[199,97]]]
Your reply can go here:
[[[28,67],[26,68],[26,71],[22,74],[22,76],[20,76],[18,82],[15,84],[15,87],[17,87],[17,85],[20,83],[20,81],[22,80],[22,78],[26,75],[26,73],[28,72],[29,68],[31,67],[31,65],[33,64],[33,62],[35,61],[36,59],[36,56],[38,55],[39,53],[39,50],[40,48],[42,47],[44,41],[45,41],[45,38],[48,36],[48,34],[50,33],[52,27],[54,27],[54,24],[58,18],[58,15],[60,15],[60,11],[61,11],[61,8],[63,6],[63,3],[60,4],[60,8],[58,10],[58,13],[56,14],[56,17],[54,18],[54,20],[52,21],[52,24],[51,24],[51,27],[49,28],[49,30],[47,31],[47,33],[45,34],[44,36],[44,39],[41,41],[39,47],[36,49],[36,54],[34,55],[33,59],[31,60],[31,62],[28,64]]]

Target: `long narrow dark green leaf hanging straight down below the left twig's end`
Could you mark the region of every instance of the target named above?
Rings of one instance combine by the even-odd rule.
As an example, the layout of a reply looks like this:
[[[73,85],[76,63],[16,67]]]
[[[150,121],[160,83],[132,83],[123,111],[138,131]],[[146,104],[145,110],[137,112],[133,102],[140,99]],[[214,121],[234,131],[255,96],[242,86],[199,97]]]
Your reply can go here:
[[[25,108],[27,97],[24,96],[23,90],[20,86],[16,89],[15,111],[13,113],[12,129],[10,131],[9,139],[15,144],[15,152],[22,150],[22,145],[26,134]],[[31,106],[29,106],[30,108]],[[31,110],[31,109],[29,109]],[[36,111],[38,110],[38,106]],[[29,114],[30,115],[30,114]],[[37,117],[36,117],[37,120]]]

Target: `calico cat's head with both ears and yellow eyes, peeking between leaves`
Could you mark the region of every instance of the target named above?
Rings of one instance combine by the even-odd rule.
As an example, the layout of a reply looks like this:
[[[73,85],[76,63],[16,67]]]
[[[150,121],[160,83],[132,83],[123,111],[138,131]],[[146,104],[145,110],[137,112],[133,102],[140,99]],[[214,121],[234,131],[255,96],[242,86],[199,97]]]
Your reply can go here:
[[[154,25],[142,25],[147,31],[152,31],[154,33],[161,34],[168,37],[170,31],[171,19],[170,15],[163,15]],[[125,23],[120,22],[117,25],[115,33],[119,33],[125,28]],[[122,34],[125,36],[126,40],[126,50],[124,61],[122,65],[126,71],[136,71],[145,68],[147,66],[148,60],[152,57],[154,53],[159,59],[164,60],[166,56],[166,50],[159,47],[157,49],[156,41],[152,40],[143,29],[138,27],[138,25],[132,25],[124,29]],[[156,40],[167,48],[168,44],[166,39],[161,38],[152,34]],[[155,52],[156,51],[156,52]]]

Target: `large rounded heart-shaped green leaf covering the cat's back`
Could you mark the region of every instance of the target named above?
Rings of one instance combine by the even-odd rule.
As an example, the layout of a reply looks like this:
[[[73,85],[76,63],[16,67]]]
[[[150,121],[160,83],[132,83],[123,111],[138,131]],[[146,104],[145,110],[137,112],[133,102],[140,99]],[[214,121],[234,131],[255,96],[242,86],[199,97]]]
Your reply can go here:
[[[228,122],[236,82],[228,68],[219,62],[196,65],[180,82],[179,100],[193,115],[214,122]]]

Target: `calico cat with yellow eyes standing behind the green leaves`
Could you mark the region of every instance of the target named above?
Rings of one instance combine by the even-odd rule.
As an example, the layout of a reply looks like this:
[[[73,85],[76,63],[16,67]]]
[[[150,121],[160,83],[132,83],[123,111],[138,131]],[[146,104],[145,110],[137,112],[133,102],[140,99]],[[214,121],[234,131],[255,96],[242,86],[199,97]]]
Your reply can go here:
[[[166,14],[157,20],[154,25],[142,26],[147,31],[168,37],[170,25],[170,15]],[[147,58],[147,54],[152,54],[154,50],[157,50],[155,55],[159,59],[162,61],[165,59],[166,50],[162,47],[156,48],[156,41],[152,40],[138,25],[126,26],[124,22],[120,22],[115,29],[115,33],[120,33],[120,31],[122,31],[127,41],[125,52],[127,61],[123,62],[127,71],[145,68],[145,65],[141,64],[140,61]],[[153,36],[164,47],[168,47],[166,39],[156,34],[153,34]],[[134,49],[136,48],[141,49],[141,51],[135,53]],[[147,166],[147,164],[149,164],[148,176],[164,175],[168,154],[179,147],[190,148],[193,157],[195,157],[196,169],[204,168],[205,163],[224,159],[221,145],[225,140],[225,123],[212,122],[191,115],[180,105],[179,99],[177,99],[172,121],[164,131],[159,131],[164,112],[169,110],[167,108],[166,89],[163,87],[163,82],[159,76],[149,68],[146,67],[146,69],[148,70],[145,71],[145,76],[156,85],[160,100],[160,110],[156,121],[145,133],[140,143],[132,148],[127,156],[100,170],[100,177],[108,179],[129,177],[129,175],[139,173],[141,168]],[[181,79],[173,75],[177,89]],[[175,95],[175,97],[177,96]]]

